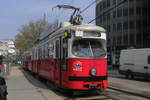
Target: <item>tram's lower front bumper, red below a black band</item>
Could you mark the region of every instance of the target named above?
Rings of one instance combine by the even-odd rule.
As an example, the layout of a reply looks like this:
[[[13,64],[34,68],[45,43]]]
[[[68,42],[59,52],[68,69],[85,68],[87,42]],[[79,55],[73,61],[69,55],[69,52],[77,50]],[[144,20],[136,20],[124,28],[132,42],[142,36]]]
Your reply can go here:
[[[69,77],[70,89],[89,90],[107,87],[107,76],[103,77]]]

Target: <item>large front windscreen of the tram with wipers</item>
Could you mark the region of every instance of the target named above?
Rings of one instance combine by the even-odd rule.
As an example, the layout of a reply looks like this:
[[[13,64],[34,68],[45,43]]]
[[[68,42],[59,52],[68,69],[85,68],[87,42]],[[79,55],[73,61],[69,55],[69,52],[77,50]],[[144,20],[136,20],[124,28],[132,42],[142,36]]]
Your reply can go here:
[[[98,40],[75,40],[72,53],[78,57],[105,57],[106,52]]]

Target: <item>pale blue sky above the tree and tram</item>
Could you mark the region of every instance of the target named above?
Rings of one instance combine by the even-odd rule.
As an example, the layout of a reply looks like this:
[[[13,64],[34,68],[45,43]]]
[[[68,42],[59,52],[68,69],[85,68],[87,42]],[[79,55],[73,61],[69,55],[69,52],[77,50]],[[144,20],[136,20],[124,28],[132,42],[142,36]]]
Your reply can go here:
[[[81,10],[94,0],[0,0],[0,39],[13,39],[18,34],[21,25],[31,20],[42,18],[44,13],[49,22],[57,18],[60,21],[68,21],[71,10],[54,9],[58,4],[71,4],[80,7]],[[88,22],[95,17],[95,5],[91,6],[83,14],[84,21]],[[59,17],[58,17],[59,16]]]

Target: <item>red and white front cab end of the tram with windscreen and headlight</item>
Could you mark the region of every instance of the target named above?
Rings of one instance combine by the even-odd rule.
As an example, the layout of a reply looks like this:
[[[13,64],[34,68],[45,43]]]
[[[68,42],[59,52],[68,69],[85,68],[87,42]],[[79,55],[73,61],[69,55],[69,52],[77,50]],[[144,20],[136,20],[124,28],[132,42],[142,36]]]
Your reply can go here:
[[[66,70],[62,71],[63,87],[75,90],[106,88],[106,31],[94,25],[76,25],[68,30],[63,44],[68,48],[63,54],[63,69]]]

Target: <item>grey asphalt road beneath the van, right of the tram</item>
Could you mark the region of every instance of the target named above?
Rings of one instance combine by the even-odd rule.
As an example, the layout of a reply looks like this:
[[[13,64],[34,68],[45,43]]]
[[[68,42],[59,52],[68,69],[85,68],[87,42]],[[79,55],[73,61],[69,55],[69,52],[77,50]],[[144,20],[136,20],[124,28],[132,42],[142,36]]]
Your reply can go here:
[[[150,99],[150,80],[141,77],[135,79],[126,79],[124,75],[120,75],[118,70],[108,70],[108,86],[134,95],[147,97]]]

